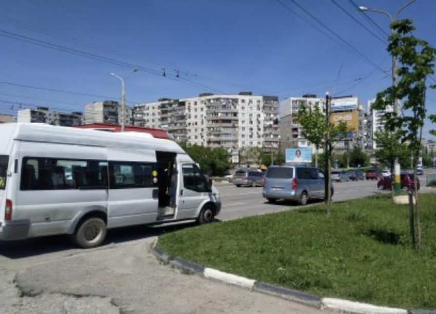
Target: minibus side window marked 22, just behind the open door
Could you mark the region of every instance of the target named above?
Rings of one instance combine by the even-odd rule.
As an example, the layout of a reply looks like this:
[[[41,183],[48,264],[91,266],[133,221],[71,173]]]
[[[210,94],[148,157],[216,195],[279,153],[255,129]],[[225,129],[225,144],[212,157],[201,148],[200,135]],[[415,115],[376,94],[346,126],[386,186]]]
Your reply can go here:
[[[156,164],[140,162],[109,162],[111,189],[149,188],[157,186],[153,177]],[[157,172],[156,172],[157,173]]]

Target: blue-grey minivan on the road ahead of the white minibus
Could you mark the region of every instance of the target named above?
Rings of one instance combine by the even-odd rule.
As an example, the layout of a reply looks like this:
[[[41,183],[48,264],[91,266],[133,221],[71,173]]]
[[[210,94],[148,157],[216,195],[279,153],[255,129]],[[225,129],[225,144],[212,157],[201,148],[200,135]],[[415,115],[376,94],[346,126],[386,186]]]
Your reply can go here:
[[[309,199],[324,199],[324,172],[316,167],[271,166],[265,175],[262,194],[270,203],[285,199],[306,205]]]

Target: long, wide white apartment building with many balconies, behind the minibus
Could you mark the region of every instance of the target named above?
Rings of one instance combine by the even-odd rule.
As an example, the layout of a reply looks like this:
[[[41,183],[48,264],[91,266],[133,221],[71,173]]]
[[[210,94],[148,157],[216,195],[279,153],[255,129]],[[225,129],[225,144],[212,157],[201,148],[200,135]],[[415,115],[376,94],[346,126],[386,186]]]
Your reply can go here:
[[[229,152],[243,147],[276,151],[279,147],[278,97],[200,94],[198,97],[160,99],[133,107],[136,126],[162,128],[175,141]]]

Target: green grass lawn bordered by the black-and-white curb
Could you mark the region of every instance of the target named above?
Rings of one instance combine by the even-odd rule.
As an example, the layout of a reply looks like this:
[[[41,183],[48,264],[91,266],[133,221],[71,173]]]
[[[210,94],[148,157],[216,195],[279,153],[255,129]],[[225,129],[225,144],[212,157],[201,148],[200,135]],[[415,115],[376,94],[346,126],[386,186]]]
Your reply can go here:
[[[171,256],[321,297],[436,308],[436,194],[421,194],[423,249],[410,248],[408,206],[388,195],[183,229]],[[224,209],[225,210],[225,209]]]

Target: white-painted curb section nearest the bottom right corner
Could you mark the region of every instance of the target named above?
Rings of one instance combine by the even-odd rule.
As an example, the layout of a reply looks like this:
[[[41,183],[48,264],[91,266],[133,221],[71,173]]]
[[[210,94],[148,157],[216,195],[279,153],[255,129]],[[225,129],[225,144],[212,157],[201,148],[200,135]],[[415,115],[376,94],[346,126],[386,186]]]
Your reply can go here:
[[[321,308],[356,314],[407,314],[407,310],[402,308],[376,306],[367,303],[332,298],[321,299]]]

